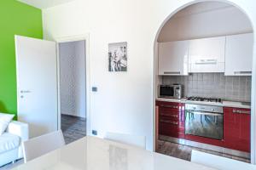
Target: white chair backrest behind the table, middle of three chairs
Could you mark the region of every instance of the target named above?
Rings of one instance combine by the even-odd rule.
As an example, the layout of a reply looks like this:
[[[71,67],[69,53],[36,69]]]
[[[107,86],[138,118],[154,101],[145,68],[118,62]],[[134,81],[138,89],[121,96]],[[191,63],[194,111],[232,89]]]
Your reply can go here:
[[[109,139],[124,144],[131,144],[146,149],[146,137],[144,136],[136,136],[124,133],[106,133],[104,139]]]

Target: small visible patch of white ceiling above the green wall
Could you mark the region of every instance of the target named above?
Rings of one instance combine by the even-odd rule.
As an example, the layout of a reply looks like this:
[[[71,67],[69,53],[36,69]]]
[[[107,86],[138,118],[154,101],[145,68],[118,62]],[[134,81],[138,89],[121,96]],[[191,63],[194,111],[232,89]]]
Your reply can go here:
[[[36,8],[49,8],[62,3],[68,3],[74,0],[17,0],[21,3],[29,4]]]

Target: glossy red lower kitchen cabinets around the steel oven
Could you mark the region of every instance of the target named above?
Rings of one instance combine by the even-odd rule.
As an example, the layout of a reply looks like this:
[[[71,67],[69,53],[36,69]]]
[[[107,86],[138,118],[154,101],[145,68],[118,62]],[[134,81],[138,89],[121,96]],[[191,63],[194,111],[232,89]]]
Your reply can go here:
[[[250,152],[250,109],[224,107],[224,139],[208,139],[185,134],[184,104],[156,101],[159,134]]]

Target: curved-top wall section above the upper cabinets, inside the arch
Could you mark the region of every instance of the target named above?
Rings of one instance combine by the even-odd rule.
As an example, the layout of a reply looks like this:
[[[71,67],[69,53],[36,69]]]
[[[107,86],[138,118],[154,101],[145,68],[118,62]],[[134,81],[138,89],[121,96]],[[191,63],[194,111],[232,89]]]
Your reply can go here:
[[[158,42],[218,37],[253,31],[246,14],[234,6],[227,7],[221,4],[223,3],[198,3],[178,12],[163,27]]]

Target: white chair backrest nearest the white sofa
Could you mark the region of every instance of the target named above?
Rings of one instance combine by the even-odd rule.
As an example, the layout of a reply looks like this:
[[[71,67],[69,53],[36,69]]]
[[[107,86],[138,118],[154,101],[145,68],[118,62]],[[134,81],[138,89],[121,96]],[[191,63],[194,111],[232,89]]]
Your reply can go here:
[[[23,142],[24,161],[25,163],[31,161],[63,145],[65,145],[65,140],[61,130],[26,140]]]

